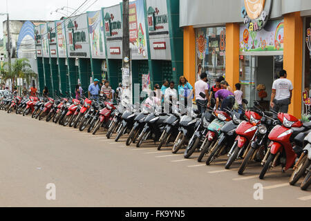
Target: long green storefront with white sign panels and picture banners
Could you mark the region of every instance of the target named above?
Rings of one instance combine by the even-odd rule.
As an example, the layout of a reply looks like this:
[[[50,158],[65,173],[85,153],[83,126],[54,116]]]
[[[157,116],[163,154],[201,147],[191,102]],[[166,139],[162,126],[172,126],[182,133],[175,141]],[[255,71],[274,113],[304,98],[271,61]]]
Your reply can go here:
[[[129,3],[131,84],[177,82],[183,73],[183,33],[179,0]],[[84,92],[93,79],[122,82],[122,3],[69,19],[35,26],[39,90],[50,95]],[[150,79],[150,80],[148,80]]]

